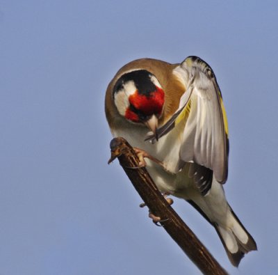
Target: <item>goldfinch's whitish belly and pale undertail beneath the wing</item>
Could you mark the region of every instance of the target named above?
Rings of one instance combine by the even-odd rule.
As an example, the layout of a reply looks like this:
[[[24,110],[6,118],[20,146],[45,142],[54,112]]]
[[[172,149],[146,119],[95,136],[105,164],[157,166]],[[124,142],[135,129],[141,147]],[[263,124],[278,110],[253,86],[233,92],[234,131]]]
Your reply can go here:
[[[174,128],[169,134],[163,136],[154,144],[144,141],[147,132],[145,127],[133,127],[131,132],[126,132],[126,128],[124,128],[123,131],[117,130],[117,132],[113,132],[113,135],[124,137],[124,139],[131,143],[131,146],[145,150],[149,155],[163,161],[167,171],[149,159],[145,159],[147,171],[152,176],[158,189],[196,203],[208,219],[218,225],[220,234],[229,251],[236,253],[238,251],[238,244],[234,235],[243,244],[247,243],[248,236],[232,214],[225,198],[222,184],[218,183],[213,177],[210,191],[208,191],[206,196],[202,196],[193,178],[188,178],[186,168],[174,173],[174,171],[177,171],[179,148],[181,146],[181,136],[179,136],[179,133],[182,131],[179,131],[178,127],[177,129]]]

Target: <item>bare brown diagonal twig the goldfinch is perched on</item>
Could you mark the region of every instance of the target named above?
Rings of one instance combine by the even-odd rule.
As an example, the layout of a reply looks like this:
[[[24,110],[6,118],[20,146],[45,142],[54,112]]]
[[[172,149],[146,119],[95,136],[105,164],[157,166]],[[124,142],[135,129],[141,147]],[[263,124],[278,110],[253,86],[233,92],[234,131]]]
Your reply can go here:
[[[227,275],[227,272],[167,203],[147,170],[144,167],[138,167],[139,160],[136,153],[123,138],[115,138],[111,141],[111,159],[108,163],[115,158],[119,159],[126,175],[149,210],[157,217],[161,217],[163,228],[199,270],[203,274]]]

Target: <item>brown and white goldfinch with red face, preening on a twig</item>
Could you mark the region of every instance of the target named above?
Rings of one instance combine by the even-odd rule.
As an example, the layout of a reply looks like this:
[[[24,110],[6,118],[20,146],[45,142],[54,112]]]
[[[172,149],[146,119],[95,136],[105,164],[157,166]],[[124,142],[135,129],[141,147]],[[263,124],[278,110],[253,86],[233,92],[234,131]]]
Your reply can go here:
[[[224,194],[229,129],[211,67],[197,56],[181,63],[140,58],[108,84],[105,113],[113,136],[136,148],[161,193],[182,198],[217,231],[232,265],[257,250]]]

